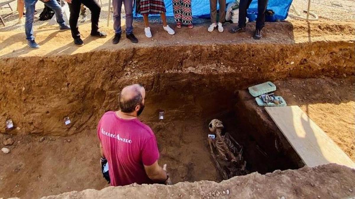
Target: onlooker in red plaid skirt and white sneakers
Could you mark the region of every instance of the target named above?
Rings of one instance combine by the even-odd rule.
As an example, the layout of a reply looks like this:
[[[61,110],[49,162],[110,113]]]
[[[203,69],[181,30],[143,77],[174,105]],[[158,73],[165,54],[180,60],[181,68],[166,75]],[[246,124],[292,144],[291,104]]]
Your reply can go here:
[[[160,14],[160,17],[163,21],[164,30],[170,35],[175,34],[175,31],[171,29],[166,23],[164,0],[137,0],[137,12],[143,15],[144,24],[146,25],[144,28],[144,33],[146,34],[147,38],[152,37],[151,27],[149,27],[148,15]]]

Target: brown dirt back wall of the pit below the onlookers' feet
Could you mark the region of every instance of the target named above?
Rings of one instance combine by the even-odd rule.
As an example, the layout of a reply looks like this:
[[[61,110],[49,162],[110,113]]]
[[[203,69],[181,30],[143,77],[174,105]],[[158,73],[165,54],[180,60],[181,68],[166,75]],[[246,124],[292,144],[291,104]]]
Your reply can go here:
[[[19,127],[7,132],[13,134],[71,135],[94,129],[106,110],[116,109],[127,84],[142,83],[148,98],[186,89],[206,96],[264,80],[351,75],[354,49],[353,42],[182,45],[4,58],[0,124],[11,118]]]

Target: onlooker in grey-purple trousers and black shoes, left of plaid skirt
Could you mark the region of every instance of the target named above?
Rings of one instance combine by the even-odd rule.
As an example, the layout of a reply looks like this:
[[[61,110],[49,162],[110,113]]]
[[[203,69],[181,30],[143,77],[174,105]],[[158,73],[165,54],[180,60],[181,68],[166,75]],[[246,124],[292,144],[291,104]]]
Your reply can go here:
[[[126,38],[133,43],[138,43],[138,39],[133,34],[133,0],[113,0],[113,28],[115,37],[112,40],[113,44],[118,44],[121,39],[121,8],[122,2],[126,13]]]

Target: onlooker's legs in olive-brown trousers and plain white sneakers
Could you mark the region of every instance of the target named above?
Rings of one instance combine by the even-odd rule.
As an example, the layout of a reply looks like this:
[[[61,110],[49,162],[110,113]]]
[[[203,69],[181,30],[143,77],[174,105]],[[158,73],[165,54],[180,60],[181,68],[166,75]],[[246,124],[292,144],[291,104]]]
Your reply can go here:
[[[224,31],[222,23],[225,20],[225,0],[218,0],[219,3],[219,19],[217,23],[217,0],[209,0],[209,6],[211,9],[211,22],[212,24],[208,27],[208,32],[212,32],[218,27],[218,32],[222,33]]]

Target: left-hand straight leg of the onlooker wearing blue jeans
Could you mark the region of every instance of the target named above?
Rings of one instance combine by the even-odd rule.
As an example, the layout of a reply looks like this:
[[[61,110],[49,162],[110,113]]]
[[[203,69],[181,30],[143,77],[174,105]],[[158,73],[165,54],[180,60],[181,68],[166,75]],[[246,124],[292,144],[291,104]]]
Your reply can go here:
[[[33,18],[34,18],[34,9],[35,5],[37,3],[37,0],[25,0],[24,4],[26,6],[26,22],[24,25],[25,33],[26,33],[26,39],[28,41],[33,41],[34,36],[33,36]]]

